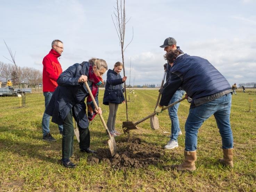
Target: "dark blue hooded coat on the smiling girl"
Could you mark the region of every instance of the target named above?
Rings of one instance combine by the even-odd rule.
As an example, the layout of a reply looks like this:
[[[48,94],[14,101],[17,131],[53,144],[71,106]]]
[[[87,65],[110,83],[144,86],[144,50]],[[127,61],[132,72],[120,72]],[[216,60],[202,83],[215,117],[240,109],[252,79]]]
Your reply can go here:
[[[123,87],[122,87],[122,77],[121,75],[112,69],[108,69],[107,72],[107,82],[105,85],[105,92],[103,98],[103,104],[108,105],[108,103],[122,103],[124,99]]]

